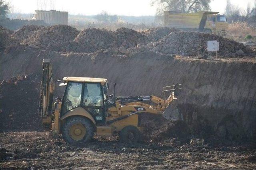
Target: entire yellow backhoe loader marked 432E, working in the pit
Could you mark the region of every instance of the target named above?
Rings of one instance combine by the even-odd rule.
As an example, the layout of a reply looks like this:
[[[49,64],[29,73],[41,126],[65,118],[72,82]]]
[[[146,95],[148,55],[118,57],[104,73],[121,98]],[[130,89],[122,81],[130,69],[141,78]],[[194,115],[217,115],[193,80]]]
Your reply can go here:
[[[53,107],[54,80],[50,59],[42,63],[39,115],[45,130],[62,137],[72,145],[90,141],[96,133],[101,136],[118,134],[128,143],[140,139],[140,115],[152,113],[167,119],[182,119],[176,109],[174,92],[181,84],[164,87],[164,99],[156,96],[108,96],[108,81],[105,78],[64,77],[60,86],[66,86],[62,102]],[[166,96],[168,93],[170,95]],[[150,105],[150,104],[152,105]],[[167,110],[168,107],[168,110]]]

